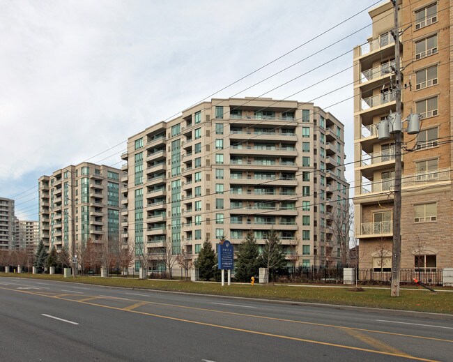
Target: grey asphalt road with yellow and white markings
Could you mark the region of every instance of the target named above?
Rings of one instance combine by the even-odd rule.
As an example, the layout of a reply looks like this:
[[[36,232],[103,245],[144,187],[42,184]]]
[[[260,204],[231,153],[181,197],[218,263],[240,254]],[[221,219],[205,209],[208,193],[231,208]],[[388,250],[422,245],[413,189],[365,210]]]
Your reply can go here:
[[[0,361],[453,361],[453,321],[0,278]]]

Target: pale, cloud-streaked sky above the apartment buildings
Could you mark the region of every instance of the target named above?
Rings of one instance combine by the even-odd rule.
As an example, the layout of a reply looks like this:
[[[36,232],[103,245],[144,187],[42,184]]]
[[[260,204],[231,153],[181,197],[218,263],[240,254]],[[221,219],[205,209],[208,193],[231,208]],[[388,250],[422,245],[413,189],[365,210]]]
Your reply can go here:
[[[353,47],[382,2],[0,0],[0,197],[38,220],[40,176],[121,167],[128,137],[211,97],[313,102],[351,163]]]

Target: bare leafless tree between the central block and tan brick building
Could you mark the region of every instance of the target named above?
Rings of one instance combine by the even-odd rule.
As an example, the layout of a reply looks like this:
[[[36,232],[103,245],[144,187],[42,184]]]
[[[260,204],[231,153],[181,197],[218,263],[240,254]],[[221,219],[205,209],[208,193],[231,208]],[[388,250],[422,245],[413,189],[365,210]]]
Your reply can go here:
[[[335,215],[329,213],[332,220],[332,232],[337,239],[340,249],[340,261],[343,266],[348,264],[349,242],[351,229],[353,229],[354,209],[350,205],[347,210],[338,208]],[[332,250],[330,250],[332,252]]]

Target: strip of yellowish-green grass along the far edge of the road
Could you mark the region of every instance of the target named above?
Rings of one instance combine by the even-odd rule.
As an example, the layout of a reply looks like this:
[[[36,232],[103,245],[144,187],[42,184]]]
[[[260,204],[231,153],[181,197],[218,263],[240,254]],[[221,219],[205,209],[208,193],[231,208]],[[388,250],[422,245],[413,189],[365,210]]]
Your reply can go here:
[[[0,273],[0,277],[33,278],[59,280],[61,282],[78,282],[107,287],[126,287],[135,289],[154,289],[169,292],[213,294],[222,296],[242,296],[258,299],[275,299],[283,301],[313,302],[338,304],[343,306],[360,306],[396,310],[413,310],[417,312],[445,313],[453,315],[453,292],[432,293],[428,290],[401,287],[400,296],[392,298],[390,288],[367,289],[364,292],[351,292],[351,287],[295,287],[294,285],[259,285],[236,284],[222,287],[217,282],[190,282],[181,280],[139,280],[135,278],[100,278],[78,276],[63,278],[61,275]],[[437,288],[450,290],[452,288]]]

